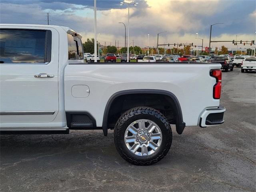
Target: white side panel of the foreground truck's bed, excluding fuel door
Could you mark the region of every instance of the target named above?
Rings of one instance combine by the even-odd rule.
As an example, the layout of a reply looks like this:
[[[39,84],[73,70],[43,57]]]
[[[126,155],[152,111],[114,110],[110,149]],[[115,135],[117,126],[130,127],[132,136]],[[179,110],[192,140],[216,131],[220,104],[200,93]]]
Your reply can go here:
[[[186,126],[196,126],[203,110],[220,104],[213,99],[216,79],[210,76],[210,70],[220,68],[218,63],[193,62],[68,64],[64,77],[65,110],[86,109],[100,127],[105,106],[114,93],[134,89],[166,90],[178,98]],[[88,86],[88,97],[72,96],[70,90],[74,85]]]

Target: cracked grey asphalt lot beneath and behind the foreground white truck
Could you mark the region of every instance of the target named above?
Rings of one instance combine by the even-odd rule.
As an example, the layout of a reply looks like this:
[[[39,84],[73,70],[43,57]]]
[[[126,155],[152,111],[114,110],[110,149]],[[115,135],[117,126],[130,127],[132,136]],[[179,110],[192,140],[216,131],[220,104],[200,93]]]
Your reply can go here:
[[[113,132],[1,135],[0,191],[256,191],[256,73],[222,73],[225,123],[186,127],[167,156],[134,166],[116,152]]]

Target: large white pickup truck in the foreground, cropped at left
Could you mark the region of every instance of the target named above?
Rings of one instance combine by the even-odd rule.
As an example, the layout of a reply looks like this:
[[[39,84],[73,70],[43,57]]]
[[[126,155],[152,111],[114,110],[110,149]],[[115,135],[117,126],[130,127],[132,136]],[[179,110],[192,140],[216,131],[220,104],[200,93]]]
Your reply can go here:
[[[170,124],[182,134],[224,122],[220,64],[84,63],[81,38],[61,26],[0,25],[1,134],[114,129],[122,158],[149,165],[170,149]]]

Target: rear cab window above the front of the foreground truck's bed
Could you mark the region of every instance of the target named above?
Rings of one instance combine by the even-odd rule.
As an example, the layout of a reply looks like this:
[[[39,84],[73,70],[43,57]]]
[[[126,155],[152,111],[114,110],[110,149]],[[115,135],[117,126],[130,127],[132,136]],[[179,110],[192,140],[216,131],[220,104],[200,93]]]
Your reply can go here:
[[[68,34],[68,60],[84,59],[83,46],[79,38]]]

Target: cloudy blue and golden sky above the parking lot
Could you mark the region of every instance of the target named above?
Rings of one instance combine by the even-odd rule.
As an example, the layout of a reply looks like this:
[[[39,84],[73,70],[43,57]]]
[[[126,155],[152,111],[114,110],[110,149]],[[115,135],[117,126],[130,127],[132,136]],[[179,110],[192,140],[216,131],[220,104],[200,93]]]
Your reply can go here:
[[[122,1],[122,0],[121,0]],[[141,47],[156,46],[157,33],[162,43],[209,44],[210,24],[212,40],[254,40],[256,35],[255,0],[135,0],[138,6],[130,9],[130,42]],[[101,44],[106,42],[124,46],[124,26],[128,25],[128,9],[120,0],[97,0],[97,33]],[[68,26],[83,36],[94,36],[93,0],[1,0],[0,22],[17,24],[50,24]],[[212,47],[232,43],[212,43]],[[238,47],[250,48],[250,45]]]

